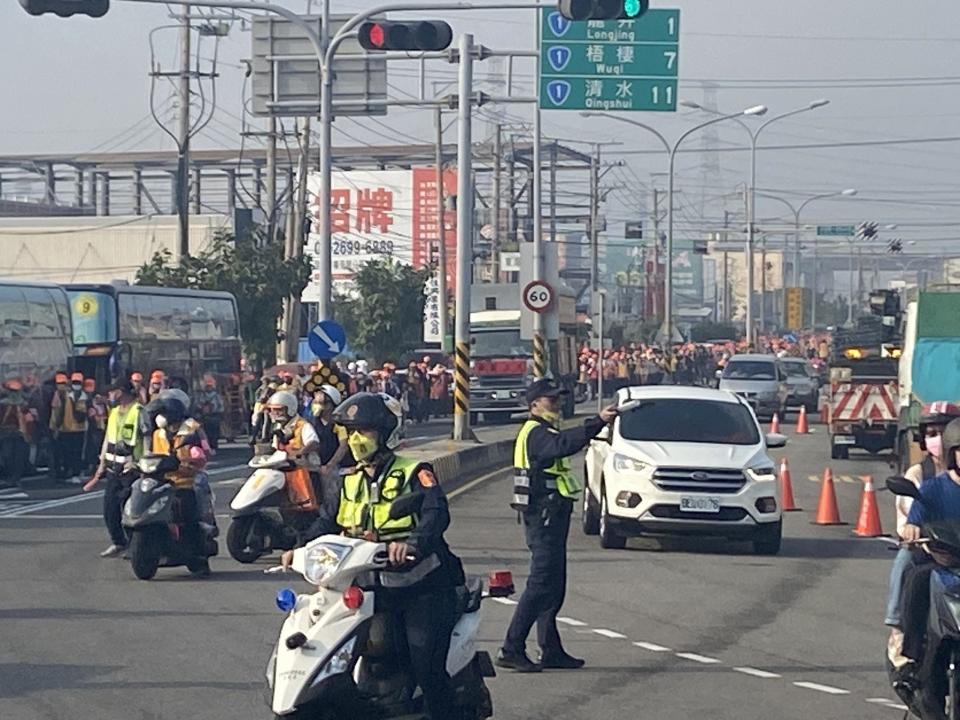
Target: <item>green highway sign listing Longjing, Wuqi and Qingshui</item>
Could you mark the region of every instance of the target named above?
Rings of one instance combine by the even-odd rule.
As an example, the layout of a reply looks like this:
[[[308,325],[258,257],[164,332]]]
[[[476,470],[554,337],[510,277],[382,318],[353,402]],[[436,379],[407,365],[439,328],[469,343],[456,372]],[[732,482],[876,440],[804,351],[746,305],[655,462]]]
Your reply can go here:
[[[567,20],[542,11],[540,107],[545,110],[677,109],[680,11],[636,20]]]

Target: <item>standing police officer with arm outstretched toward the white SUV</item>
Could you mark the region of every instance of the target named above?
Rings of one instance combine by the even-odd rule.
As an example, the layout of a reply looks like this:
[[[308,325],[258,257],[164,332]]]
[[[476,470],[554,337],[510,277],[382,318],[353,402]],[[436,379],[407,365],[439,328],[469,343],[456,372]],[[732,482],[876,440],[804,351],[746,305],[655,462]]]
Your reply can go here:
[[[581,427],[559,430],[561,390],[552,380],[532,383],[527,390],[530,419],[520,428],[514,447],[514,486],[511,507],[523,516],[530,576],[507,629],[497,665],[518,672],[542,668],[583,667],[560,643],[557,613],[567,586],[567,534],[570,513],[582,486],[570,470],[569,456],[580,452],[617,416],[614,406],[604,409]],[[526,652],[527,635],[537,625],[540,662]]]

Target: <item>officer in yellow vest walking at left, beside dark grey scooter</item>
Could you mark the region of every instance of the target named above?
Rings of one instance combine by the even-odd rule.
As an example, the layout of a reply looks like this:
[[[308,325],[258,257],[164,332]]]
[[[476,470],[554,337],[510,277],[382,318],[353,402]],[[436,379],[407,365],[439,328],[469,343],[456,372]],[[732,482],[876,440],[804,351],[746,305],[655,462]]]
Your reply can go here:
[[[104,474],[107,476],[107,487],[103,491],[103,521],[110,534],[110,547],[100,553],[100,557],[105,558],[119,555],[127,547],[127,533],[120,517],[130,485],[136,477],[134,463],[143,455],[141,407],[133,383],[121,380],[110,388],[110,402],[113,408],[107,417],[100,464],[93,478],[83,486],[84,492],[90,492]]]

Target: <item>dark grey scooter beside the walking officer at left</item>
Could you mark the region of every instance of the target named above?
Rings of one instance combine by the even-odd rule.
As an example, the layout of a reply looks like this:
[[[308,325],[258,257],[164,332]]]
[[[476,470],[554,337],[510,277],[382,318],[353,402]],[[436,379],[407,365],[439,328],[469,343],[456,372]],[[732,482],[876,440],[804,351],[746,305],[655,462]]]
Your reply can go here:
[[[130,565],[141,580],[150,580],[159,567],[186,565],[192,573],[208,573],[208,558],[219,550],[216,528],[208,523],[197,524],[199,556],[186,542],[176,489],[164,478],[179,464],[172,455],[146,455],[137,463],[141,477],[123,506],[123,525],[130,531]]]

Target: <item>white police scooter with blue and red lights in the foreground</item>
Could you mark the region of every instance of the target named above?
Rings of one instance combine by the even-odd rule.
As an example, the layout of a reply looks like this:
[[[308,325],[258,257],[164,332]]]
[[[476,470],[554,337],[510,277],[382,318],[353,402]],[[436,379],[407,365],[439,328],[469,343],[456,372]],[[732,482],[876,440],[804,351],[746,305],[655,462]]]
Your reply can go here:
[[[391,519],[409,514],[418,500],[422,497],[410,495],[394,501]],[[285,588],[277,593],[277,607],[287,617],[266,670],[266,699],[275,717],[422,718],[422,698],[405,669],[409,663],[404,662],[402,634],[395,632],[389,614],[378,612],[381,574],[391,572],[387,544],[323,535],[294,551],[293,569],[317,590],[298,595]],[[460,712],[444,720],[493,715],[484,678],[495,672],[490,656],[476,647],[480,603],[511,594],[509,572],[491,573],[486,593],[479,578],[458,589],[447,672]]]

